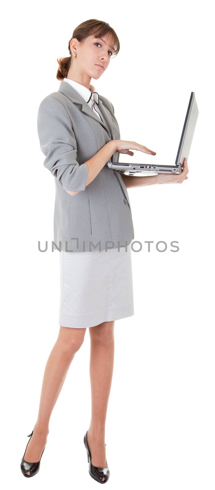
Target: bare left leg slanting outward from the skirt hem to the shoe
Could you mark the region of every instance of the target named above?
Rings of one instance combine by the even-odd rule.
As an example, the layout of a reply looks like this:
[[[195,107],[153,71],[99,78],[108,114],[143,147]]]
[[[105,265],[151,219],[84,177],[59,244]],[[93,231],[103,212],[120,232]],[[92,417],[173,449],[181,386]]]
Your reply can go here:
[[[86,328],[60,326],[57,341],[50,352],[44,372],[39,413],[34,432],[24,455],[24,460],[29,463],[37,462],[41,458],[47,442],[49,419],[52,410],[64,384],[75,352],[83,343],[85,332]],[[29,471],[26,473],[29,474]]]

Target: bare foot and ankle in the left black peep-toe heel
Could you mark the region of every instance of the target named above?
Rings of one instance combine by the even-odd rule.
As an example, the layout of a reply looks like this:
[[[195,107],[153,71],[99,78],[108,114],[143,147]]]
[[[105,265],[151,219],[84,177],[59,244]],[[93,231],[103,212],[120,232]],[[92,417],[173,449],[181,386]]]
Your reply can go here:
[[[42,452],[47,443],[48,432],[49,431],[39,429],[37,425],[34,426],[33,434],[24,453],[24,461],[27,461],[28,463],[37,463],[40,461]],[[26,474],[29,475],[30,472],[26,471]]]

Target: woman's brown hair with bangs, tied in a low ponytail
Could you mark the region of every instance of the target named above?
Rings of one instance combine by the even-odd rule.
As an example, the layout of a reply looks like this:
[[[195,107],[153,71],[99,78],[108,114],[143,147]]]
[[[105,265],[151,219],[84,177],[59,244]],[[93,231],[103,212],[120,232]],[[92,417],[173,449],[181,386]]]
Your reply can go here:
[[[70,49],[70,43],[73,38],[77,39],[79,42],[84,41],[88,36],[94,35],[95,37],[102,37],[108,34],[108,38],[111,37],[114,44],[114,52],[113,54],[117,55],[119,53],[119,39],[115,30],[110,27],[107,22],[97,21],[97,19],[90,19],[89,21],[82,22],[73,30],[72,37],[68,44],[68,49],[70,51],[70,56],[66,58],[60,58],[57,62],[59,64],[57,70],[57,79],[63,80],[67,78],[67,74],[70,69],[70,65],[72,62],[72,53]]]

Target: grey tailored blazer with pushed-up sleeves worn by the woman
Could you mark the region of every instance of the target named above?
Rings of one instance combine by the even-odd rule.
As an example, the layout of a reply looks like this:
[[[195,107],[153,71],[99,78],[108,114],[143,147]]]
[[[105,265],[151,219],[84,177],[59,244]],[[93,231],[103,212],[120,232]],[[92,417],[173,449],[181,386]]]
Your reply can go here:
[[[86,186],[85,162],[108,141],[120,139],[112,103],[99,95],[96,110],[102,121],[65,81],[39,106],[37,129],[46,155],[44,166],[55,177],[53,249],[107,250],[126,246],[126,242],[129,245],[134,238],[129,196],[121,174],[106,163]],[[119,152],[111,160],[119,161]],[[66,190],[81,192],[71,196]]]

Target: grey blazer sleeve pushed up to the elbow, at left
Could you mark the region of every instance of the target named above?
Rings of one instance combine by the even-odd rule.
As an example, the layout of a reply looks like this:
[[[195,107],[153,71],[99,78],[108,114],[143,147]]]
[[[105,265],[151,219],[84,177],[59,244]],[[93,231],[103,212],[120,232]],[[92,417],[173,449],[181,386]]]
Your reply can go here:
[[[77,145],[72,123],[63,104],[54,97],[42,100],[37,116],[40,147],[46,158],[44,167],[67,191],[84,191],[88,165],[76,160]]]

